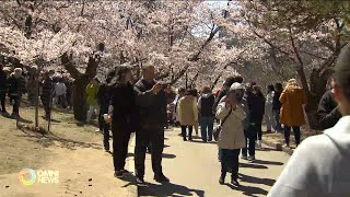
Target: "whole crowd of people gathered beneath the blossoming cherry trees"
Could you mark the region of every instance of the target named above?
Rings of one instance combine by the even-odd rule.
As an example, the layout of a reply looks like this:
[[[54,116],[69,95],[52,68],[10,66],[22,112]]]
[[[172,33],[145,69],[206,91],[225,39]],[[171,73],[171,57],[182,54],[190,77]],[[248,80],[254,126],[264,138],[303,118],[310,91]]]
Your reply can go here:
[[[241,76],[229,77],[215,93],[209,86],[203,86],[199,93],[196,89],[178,89],[174,95],[168,84],[155,80],[153,66],[145,66],[143,77],[135,84],[131,69],[118,66],[106,74],[103,82],[93,79],[86,85],[86,123],[91,120],[94,112],[98,114],[106,151],[110,148],[112,128],[116,177],[128,173],[125,170],[128,144],[131,132],[136,132],[135,166],[138,184],[144,183],[148,150],[152,154],[154,179],[160,183],[170,182],[162,169],[164,129],[168,124],[180,127],[184,141],[192,141],[192,131],[197,130],[198,136],[200,125],[203,142],[212,141],[213,132],[218,135],[218,157],[221,162],[219,183],[224,184],[226,174],[231,173],[231,184],[240,186],[240,154],[242,153],[243,160],[256,159],[256,148],[261,148],[265,117],[267,132],[283,132],[284,146],[289,147],[290,132],[293,129],[296,147],[300,146],[270,196],[343,194],[348,190],[343,183],[350,177],[346,171],[350,163],[349,57],[348,46],[337,61],[335,76],[330,80],[331,89],[319,102],[319,121],[322,127],[328,130],[324,135],[308,138],[302,144],[301,127],[306,124],[306,95],[295,79],[290,79],[284,88],[281,83],[269,84],[266,95],[255,82],[245,83]],[[22,69],[14,69],[8,77],[0,65],[2,113],[7,113],[4,102],[8,94],[13,104],[13,115],[19,116],[21,97],[27,91],[25,83]],[[51,79],[51,74],[45,72],[40,78],[40,99],[47,118],[52,97],[62,107],[69,106],[69,88],[65,79]],[[100,113],[96,112],[97,108]],[[170,115],[170,112],[173,113]],[[220,123],[220,129],[214,129],[215,119]],[[300,161],[303,163],[300,164]],[[342,185],[329,185],[338,182]]]

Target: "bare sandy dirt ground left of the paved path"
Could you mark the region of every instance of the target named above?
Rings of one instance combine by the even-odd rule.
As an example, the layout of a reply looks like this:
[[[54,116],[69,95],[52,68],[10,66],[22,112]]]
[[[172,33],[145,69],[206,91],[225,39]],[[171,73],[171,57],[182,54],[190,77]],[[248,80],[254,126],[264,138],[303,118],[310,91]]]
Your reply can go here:
[[[94,127],[56,113],[52,135],[16,129],[0,116],[0,196],[136,196],[135,185],[113,176],[113,160]],[[23,185],[22,169],[59,171],[59,183]],[[131,178],[131,177],[130,177]],[[129,178],[129,179],[130,179]]]

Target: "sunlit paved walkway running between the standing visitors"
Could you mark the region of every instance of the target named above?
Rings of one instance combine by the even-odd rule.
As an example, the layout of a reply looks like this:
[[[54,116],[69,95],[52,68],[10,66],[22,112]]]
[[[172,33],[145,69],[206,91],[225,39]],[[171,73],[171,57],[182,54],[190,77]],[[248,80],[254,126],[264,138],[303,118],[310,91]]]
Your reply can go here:
[[[202,143],[196,138],[194,142],[184,142],[178,134],[179,129],[167,130],[165,134],[163,170],[172,183],[160,185],[153,181],[151,160],[148,155],[148,184],[139,187],[139,196],[266,196],[289,159],[287,153],[266,147],[257,151],[255,162],[241,160],[241,187],[219,185],[220,163],[217,144]],[[131,140],[131,150],[133,143],[135,140]],[[133,162],[129,164],[129,169],[133,171]],[[230,176],[226,177],[226,183],[230,183]]]

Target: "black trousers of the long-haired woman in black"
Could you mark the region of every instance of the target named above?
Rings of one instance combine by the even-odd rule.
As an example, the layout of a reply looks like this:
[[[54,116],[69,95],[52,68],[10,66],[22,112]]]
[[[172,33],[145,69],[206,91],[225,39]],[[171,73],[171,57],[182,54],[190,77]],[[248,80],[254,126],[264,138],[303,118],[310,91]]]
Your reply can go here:
[[[125,167],[125,161],[128,155],[128,146],[129,146],[131,132],[117,130],[116,128],[112,128],[112,131],[113,131],[114,170],[120,171],[120,170],[124,170]]]

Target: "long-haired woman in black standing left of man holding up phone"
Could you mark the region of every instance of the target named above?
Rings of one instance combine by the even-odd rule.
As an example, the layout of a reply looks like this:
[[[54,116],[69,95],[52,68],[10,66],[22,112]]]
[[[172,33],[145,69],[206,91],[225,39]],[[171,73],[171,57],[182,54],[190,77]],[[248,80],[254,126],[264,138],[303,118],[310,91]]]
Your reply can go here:
[[[114,82],[115,81],[115,82]],[[122,177],[130,135],[138,129],[137,93],[131,84],[131,69],[126,66],[117,68],[116,79],[110,86],[110,107],[108,119],[112,119],[113,161],[115,176]],[[109,120],[110,121],[110,120]]]

